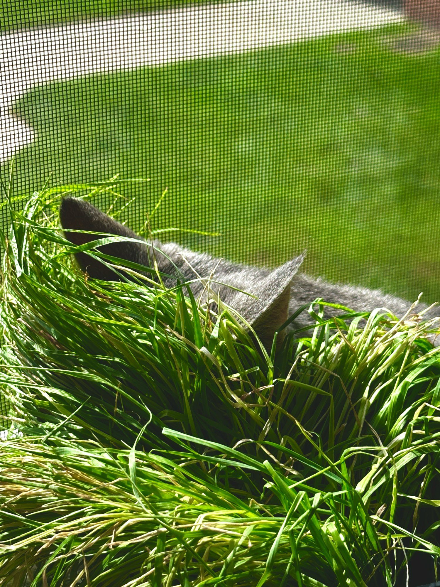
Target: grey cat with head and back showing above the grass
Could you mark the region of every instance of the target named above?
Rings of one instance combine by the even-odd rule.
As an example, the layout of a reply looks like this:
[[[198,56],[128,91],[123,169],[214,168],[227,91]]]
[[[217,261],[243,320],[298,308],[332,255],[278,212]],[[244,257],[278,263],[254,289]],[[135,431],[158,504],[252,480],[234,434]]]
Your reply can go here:
[[[79,198],[66,197],[60,206],[60,220],[63,228],[98,232],[99,235],[114,234],[137,239],[139,242],[114,242],[100,247],[102,252],[113,257],[136,262],[153,268],[154,260],[161,273],[169,275],[164,284],[173,287],[177,277],[192,281],[194,295],[206,301],[208,292],[211,298],[219,295],[222,302],[231,306],[255,329],[266,346],[270,346],[277,328],[300,306],[323,298],[326,302],[339,303],[355,311],[372,311],[384,308],[398,318],[405,315],[411,303],[380,290],[358,286],[330,284],[298,273],[303,255],[294,257],[284,265],[270,270],[249,265],[236,264],[211,257],[204,253],[189,251],[175,243],[162,244],[159,241],[146,242],[130,229],[116,222],[92,204]],[[74,244],[83,244],[100,238],[99,235],[66,232]],[[115,281],[119,279],[111,269],[94,261],[84,253],[76,255],[83,271],[92,278]],[[236,288],[236,289],[232,289]],[[238,292],[240,289],[250,295]],[[418,311],[427,306],[420,304]],[[326,308],[328,316],[340,311]],[[425,318],[440,316],[440,308],[434,307]],[[293,328],[302,328],[310,323],[306,312],[293,322]]]

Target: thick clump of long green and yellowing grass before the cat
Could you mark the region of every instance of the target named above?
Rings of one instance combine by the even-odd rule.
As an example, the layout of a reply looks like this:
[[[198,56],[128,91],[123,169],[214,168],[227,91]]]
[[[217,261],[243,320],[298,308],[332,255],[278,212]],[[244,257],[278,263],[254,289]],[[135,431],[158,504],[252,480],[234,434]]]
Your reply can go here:
[[[58,204],[35,194],[2,235],[0,585],[379,587],[408,561],[422,583],[434,323],[311,300],[313,336],[269,355],[185,284],[84,279]]]

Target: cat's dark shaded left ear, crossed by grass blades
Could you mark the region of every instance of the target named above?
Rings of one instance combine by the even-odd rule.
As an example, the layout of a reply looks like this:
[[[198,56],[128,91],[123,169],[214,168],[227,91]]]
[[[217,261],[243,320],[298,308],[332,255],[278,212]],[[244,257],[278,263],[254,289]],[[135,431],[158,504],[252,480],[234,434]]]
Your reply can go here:
[[[114,234],[120,237],[134,238],[137,242],[111,242],[98,247],[97,250],[124,259],[138,263],[140,265],[149,265],[148,247],[141,237],[131,231],[124,225],[116,222],[113,218],[104,214],[89,202],[80,198],[65,197],[60,205],[60,221],[63,228],[69,231],[65,232],[66,238],[74,245],[83,245],[87,242],[96,241],[103,238],[104,235]],[[72,231],[91,231],[97,234],[86,234],[84,232]],[[103,263],[93,259],[84,252],[75,255],[82,271],[87,272],[90,277],[103,279],[104,281],[119,281],[119,276]]]

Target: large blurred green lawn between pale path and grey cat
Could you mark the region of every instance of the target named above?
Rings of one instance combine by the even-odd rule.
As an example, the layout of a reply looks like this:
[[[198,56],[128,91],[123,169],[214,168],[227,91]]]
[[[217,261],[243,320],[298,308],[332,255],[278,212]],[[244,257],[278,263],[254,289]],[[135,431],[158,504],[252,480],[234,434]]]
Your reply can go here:
[[[440,291],[440,52],[399,50],[394,25],[241,55],[36,87],[14,107],[36,131],[13,194],[149,177],[133,228],[214,254],[306,269],[415,299]],[[6,168],[3,168],[4,174]]]

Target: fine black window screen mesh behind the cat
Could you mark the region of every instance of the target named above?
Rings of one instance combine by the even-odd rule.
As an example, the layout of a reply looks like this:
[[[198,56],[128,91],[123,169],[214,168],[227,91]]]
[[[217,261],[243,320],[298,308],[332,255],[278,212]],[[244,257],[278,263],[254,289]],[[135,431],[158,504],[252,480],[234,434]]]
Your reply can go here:
[[[167,239],[259,265],[307,249],[314,275],[438,298],[436,0],[1,7],[13,196],[150,178],[119,188],[135,230],[167,188]]]

